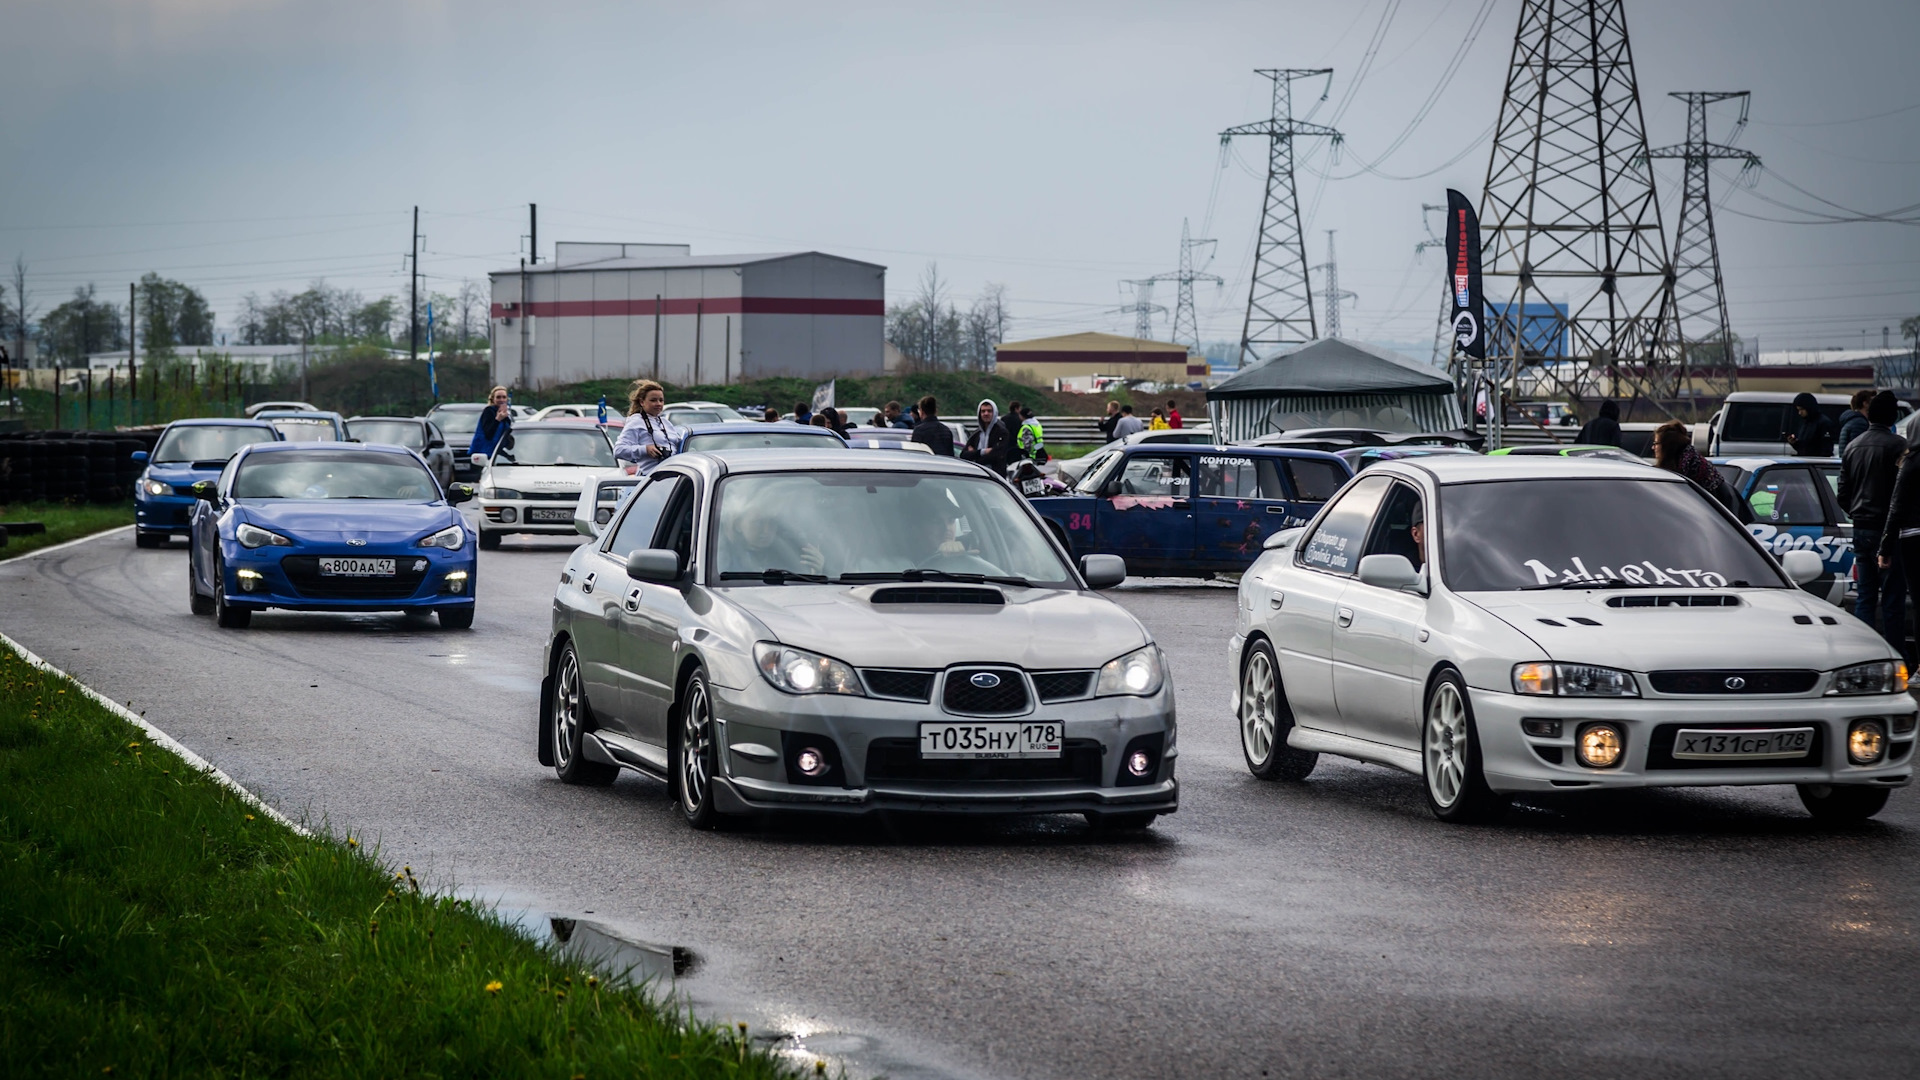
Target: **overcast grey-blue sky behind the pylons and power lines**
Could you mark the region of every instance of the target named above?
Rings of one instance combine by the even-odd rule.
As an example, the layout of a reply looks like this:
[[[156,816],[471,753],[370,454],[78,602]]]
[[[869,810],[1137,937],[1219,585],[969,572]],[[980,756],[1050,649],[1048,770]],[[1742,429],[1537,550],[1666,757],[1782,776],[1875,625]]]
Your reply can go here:
[[[1519,0],[1484,2],[1382,171],[1430,171],[1492,127]],[[1023,338],[1131,331],[1119,281],[1175,269],[1187,217],[1227,279],[1198,288],[1202,336],[1236,340],[1265,150],[1244,140],[1221,169],[1219,131],[1265,115],[1256,67],[1332,67],[1313,117],[1348,136],[1332,175],[1379,156],[1482,8],[1400,0],[1356,86],[1390,4],[6,0],[0,258],[25,256],[42,311],[159,271],[227,325],[242,294],[313,279],[403,292],[415,204],[430,286],[484,279],[516,263],[538,202],[543,258],[814,248],[885,263],[893,298],[937,261],[962,304],[1004,282]],[[1860,211],[1920,198],[1920,4],[1630,0],[1628,21],[1655,144],[1684,138],[1668,90],[1753,90],[1740,146],[1776,175],[1751,194],[1716,175],[1734,331],[1768,350],[1897,340],[1920,313],[1920,229],[1736,213],[1832,211],[1784,181]],[[1298,85],[1302,111],[1317,96]],[[1327,171],[1323,150],[1308,161]],[[1336,229],[1359,294],[1346,336],[1425,356],[1440,259],[1413,259],[1421,204],[1478,198],[1486,163],[1480,142],[1419,181],[1302,173],[1311,261]],[[1659,184],[1670,231],[1678,161]]]

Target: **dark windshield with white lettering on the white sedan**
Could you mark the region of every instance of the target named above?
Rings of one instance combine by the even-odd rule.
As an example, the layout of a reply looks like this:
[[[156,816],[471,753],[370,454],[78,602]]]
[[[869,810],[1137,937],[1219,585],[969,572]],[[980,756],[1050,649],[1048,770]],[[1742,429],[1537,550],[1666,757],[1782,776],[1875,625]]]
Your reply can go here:
[[[1448,484],[1440,488],[1440,565],[1455,592],[1786,586],[1707,498],[1663,480]]]

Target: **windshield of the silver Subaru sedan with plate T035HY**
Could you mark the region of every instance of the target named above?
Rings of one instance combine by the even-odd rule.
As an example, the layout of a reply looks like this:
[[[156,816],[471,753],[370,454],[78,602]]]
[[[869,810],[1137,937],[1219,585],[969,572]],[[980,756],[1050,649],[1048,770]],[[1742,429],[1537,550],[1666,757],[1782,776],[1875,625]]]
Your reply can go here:
[[[987,477],[927,473],[770,473],[720,482],[714,498],[720,582],[814,577],[1002,580],[1073,588],[1039,525]],[[785,571],[776,575],[770,571]]]

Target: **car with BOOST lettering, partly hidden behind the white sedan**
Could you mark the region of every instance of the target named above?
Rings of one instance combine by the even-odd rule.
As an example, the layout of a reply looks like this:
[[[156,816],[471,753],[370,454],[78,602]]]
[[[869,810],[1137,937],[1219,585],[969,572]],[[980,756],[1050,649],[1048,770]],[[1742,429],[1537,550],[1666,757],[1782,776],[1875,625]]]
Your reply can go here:
[[[1709,457],[1741,503],[1747,532],[1774,557],[1820,555],[1820,577],[1807,592],[1851,607],[1853,521],[1839,505],[1837,457]]]

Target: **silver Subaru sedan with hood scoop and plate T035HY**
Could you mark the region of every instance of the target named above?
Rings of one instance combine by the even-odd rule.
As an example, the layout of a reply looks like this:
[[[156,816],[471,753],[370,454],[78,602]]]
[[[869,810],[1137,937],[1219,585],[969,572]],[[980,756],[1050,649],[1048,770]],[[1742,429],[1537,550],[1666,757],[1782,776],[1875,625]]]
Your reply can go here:
[[[553,598],[540,761],[772,811],[1173,813],[1165,657],[1004,480],[922,454],[668,459]]]

